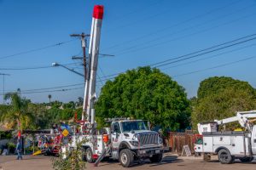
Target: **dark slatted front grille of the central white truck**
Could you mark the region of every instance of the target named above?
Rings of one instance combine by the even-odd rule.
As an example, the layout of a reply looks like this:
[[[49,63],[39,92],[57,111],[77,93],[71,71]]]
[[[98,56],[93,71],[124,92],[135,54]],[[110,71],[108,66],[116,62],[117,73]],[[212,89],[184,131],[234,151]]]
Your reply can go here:
[[[158,144],[158,133],[139,133],[139,144]]]

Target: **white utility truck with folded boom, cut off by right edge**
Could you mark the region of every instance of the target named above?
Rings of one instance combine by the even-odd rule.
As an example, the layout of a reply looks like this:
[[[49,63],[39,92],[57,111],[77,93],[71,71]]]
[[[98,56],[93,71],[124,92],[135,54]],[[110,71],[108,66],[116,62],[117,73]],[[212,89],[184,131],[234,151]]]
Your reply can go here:
[[[203,153],[208,159],[212,154],[218,154],[218,161],[223,164],[233,163],[236,158],[253,161],[256,157],[256,126],[253,126],[255,120],[249,120],[253,117],[256,117],[256,111],[240,111],[236,116],[220,121],[199,123],[202,140],[195,144],[195,152]],[[218,132],[218,127],[230,122],[239,122],[245,131]]]

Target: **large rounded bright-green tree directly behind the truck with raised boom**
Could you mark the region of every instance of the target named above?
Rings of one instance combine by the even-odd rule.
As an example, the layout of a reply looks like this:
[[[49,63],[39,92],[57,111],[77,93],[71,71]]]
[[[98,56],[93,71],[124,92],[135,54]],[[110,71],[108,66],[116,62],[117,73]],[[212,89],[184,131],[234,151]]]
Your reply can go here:
[[[190,107],[184,88],[158,69],[139,67],[106,82],[96,102],[96,121],[134,117],[177,130],[189,126]]]

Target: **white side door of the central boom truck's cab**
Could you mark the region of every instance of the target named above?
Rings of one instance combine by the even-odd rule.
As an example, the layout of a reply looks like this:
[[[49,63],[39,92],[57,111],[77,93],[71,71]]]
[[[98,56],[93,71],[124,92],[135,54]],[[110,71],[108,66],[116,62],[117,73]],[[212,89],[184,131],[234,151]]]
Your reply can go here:
[[[121,130],[120,130],[119,122],[114,122],[111,127],[111,142],[114,149],[119,148],[119,144],[121,142],[121,140],[119,139],[120,133],[121,133]]]

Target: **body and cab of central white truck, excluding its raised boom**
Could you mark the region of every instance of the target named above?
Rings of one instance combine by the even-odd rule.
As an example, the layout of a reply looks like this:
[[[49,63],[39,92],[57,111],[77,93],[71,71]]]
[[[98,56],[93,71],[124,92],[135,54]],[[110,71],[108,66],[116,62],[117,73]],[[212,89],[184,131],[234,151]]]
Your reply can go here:
[[[159,133],[148,128],[143,120],[113,119],[111,127],[99,135],[79,135],[74,139],[87,139],[82,144],[84,160],[96,165],[104,157],[119,160],[123,167],[131,167],[135,161],[149,158],[160,162],[163,156],[163,140]],[[73,143],[74,145],[75,143]]]

